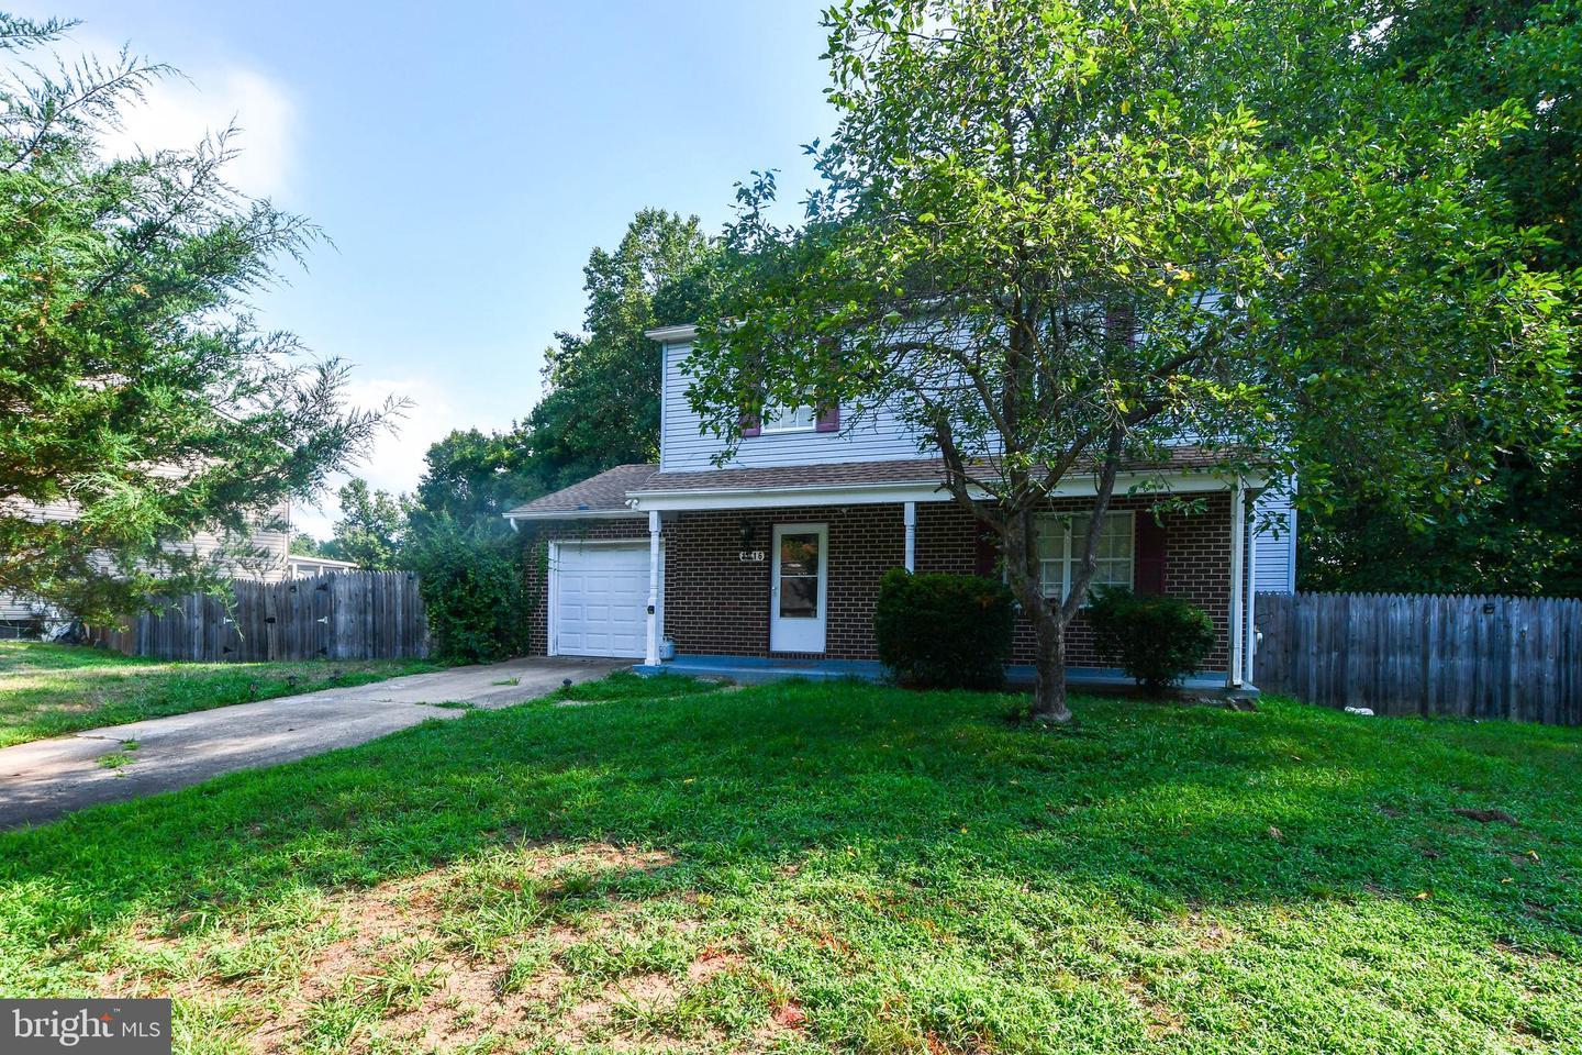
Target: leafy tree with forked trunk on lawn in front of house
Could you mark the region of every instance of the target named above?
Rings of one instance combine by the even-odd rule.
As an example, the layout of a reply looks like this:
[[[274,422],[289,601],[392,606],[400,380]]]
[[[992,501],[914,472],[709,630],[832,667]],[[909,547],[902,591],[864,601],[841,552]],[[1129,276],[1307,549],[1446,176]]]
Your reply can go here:
[[[1368,27],[1326,9],[846,0],[804,221],[769,220],[772,176],[739,190],[694,406],[729,443],[766,402],[837,399],[845,427],[889,405],[927,437],[1033,623],[1041,720],[1069,718],[1101,525],[1046,599],[1035,514],[1062,481],[1103,514],[1190,432],[1226,471],[1300,467],[1304,493],[1343,460],[1454,503],[1493,468],[1468,422],[1535,449],[1563,425],[1565,283],[1471,177],[1520,114],[1446,125],[1395,73],[1348,85],[1329,65]],[[1370,109],[1266,123],[1304,90],[1304,119]]]

